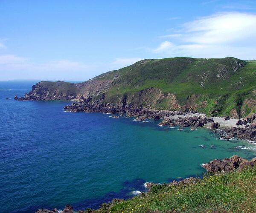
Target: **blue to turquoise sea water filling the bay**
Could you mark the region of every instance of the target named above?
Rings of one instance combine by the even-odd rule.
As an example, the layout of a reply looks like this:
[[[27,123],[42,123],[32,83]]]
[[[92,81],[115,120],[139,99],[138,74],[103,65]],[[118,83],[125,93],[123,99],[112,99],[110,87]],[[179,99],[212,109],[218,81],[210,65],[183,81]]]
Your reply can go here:
[[[146,181],[201,176],[201,164],[214,158],[256,155],[253,144],[222,141],[204,128],[177,131],[158,127],[157,121],[64,112],[71,101],[5,99],[22,96],[33,83],[0,82],[3,212],[63,209],[65,204],[96,208],[145,190]]]

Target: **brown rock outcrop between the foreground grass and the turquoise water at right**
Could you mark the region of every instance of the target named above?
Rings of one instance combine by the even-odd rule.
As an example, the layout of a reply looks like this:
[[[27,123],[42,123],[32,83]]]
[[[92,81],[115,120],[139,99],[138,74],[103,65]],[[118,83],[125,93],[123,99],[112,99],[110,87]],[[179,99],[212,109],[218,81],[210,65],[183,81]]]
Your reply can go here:
[[[217,159],[210,161],[209,163],[204,164],[204,168],[209,172],[230,172],[234,169],[240,170],[245,166],[253,166],[255,162],[255,158],[253,158],[251,161],[248,161],[237,155],[233,155],[232,157],[225,158],[223,160]]]

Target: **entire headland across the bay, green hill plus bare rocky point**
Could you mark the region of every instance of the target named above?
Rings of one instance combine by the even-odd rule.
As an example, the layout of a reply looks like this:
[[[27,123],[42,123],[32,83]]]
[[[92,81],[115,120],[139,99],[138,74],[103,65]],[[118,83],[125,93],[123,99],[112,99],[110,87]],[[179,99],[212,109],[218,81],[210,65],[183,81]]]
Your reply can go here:
[[[25,99],[79,99],[80,108],[144,107],[234,118],[256,110],[256,62],[236,58],[146,59],[83,83],[42,81]]]

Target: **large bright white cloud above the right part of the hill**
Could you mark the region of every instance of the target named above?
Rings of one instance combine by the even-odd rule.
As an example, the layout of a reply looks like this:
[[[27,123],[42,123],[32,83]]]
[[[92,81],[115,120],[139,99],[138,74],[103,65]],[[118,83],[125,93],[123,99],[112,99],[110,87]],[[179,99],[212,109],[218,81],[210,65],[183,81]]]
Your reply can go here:
[[[218,13],[185,23],[177,42],[163,41],[152,52],[170,56],[256,58],[256,15]],[[172,38],[172,36],[165,36]]]

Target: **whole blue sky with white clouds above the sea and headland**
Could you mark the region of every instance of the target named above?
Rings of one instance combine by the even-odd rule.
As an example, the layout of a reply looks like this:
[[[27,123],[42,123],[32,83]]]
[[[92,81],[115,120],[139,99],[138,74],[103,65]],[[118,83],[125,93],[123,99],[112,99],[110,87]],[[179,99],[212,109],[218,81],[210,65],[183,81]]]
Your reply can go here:
[[[0,0],[0,81],[181,56],[256,59],[256,0]]]

